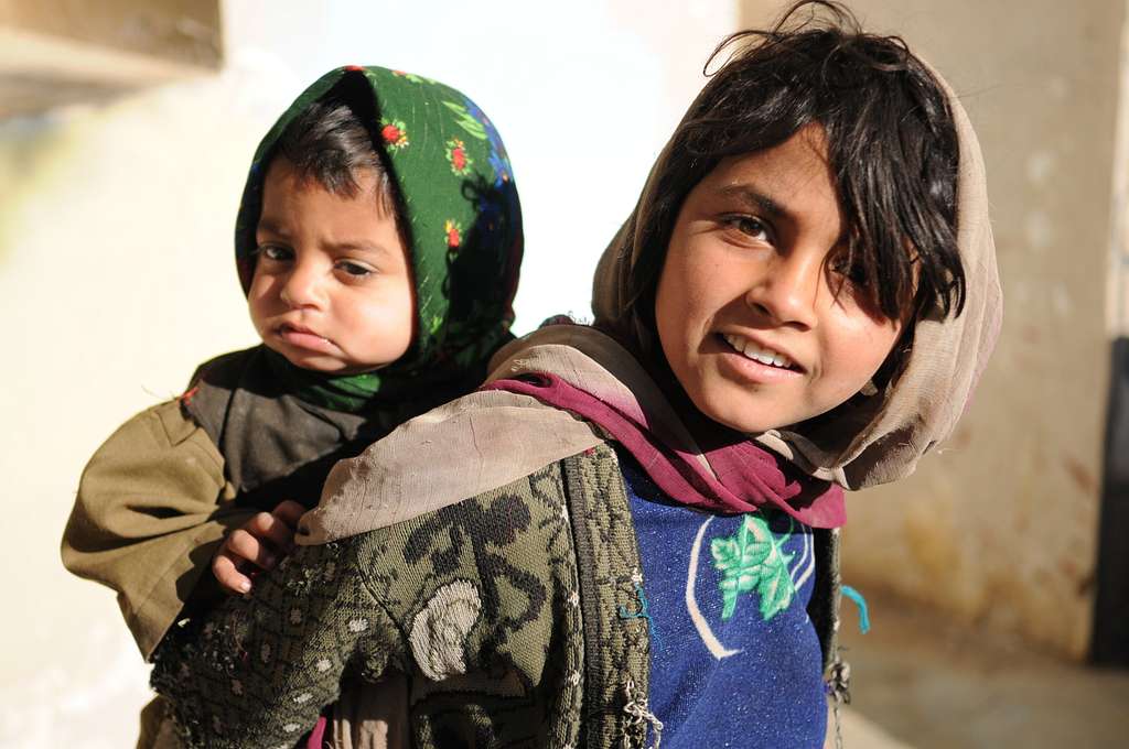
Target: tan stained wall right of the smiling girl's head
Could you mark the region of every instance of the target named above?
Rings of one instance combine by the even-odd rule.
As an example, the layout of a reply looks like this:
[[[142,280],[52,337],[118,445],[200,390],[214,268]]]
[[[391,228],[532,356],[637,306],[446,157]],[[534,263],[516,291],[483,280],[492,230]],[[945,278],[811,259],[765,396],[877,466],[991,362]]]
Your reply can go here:
[[[764,24],[781,5],[744,2],[743,25]],[[968,108],[987,161],[1006,314],[954,439],[912,478],[850,499],[847,582],[1082,658],[1124,2],[850,5],[872,30],[901,34]]]

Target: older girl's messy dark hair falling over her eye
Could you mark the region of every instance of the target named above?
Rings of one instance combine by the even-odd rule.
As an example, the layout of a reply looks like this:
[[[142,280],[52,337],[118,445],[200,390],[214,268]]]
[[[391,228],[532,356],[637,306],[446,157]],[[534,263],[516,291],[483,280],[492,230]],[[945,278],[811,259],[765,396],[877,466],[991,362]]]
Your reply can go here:
[[[769,30],[726,38],[706,69],[710,80],[653,176],[628,281],[634,315],[653,321],[666,248],[694,185],[721,159],[772,148],[812,123],[826,133],[848,239],[828,265],[849,270],[856,293],[887,318],[961,312],[956,127],[940,83],[904,41],[864,33],[838,2],[805,0]]]

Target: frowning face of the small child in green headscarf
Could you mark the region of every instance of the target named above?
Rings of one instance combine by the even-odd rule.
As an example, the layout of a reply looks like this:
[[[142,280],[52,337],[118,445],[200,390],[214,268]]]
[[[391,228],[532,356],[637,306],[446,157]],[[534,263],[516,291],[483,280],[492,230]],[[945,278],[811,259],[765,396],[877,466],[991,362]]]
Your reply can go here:
[[[247,301],[263,343],[303,369],[364,372],[412,342],[408,250],[375,176],[357,176],[357,195],[342,197],[283,158],[266,173]]]

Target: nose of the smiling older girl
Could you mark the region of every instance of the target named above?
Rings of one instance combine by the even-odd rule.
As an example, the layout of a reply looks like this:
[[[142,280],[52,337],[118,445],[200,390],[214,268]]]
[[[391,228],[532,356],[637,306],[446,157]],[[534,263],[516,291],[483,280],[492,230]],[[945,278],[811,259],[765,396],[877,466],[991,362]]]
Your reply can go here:
[[[750,287],[745,300],[776,325],[815,327],[822,274],[823,258],[814,253],[776,255]]]

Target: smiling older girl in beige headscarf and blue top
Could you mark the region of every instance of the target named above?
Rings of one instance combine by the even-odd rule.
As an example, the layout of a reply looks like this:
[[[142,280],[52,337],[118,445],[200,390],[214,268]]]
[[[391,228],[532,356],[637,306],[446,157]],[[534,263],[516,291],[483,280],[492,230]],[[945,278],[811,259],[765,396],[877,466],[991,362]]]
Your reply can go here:
[[[843,488],[951,433],[1000,320],[982,162],[896,37],[738,35],[596,274],[330,474],[170,635],[187,746],[820,747]],[[733,49],[733,47],[729,47]]]

